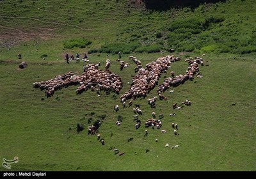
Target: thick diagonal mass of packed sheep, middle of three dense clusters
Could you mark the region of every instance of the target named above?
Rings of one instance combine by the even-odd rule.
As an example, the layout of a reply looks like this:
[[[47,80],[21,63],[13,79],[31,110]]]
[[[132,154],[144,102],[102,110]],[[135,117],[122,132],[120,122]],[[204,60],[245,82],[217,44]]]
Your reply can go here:
[[[136,61],[136,59],[131,58]],[[158,58],[156,61],[148,63],[145,68],[141,67],[138,74],[132,78],[131,86],[121,97],[121,102],[127,99],[136,99],[137,97],[145,98],[157,84],[159,77],[163,72],[166,72],[170,68],[172,61],[175,61],[174,56],[166,56]],[[138,65],[138,61],[137,65]]]

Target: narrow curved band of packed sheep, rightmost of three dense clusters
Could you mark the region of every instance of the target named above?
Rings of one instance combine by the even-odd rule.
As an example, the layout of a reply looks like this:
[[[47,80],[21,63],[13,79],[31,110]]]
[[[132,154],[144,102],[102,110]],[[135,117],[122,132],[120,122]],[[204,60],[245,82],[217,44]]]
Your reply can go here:
[[[160,84],[157,88],[157,92],[159,95],[161,95],[162,92],[166,91],[166,89],[170,88],[170,86],[173,86],[173,87],[179,86],[180,84],[184,84],[184,82],[187,81],[188,79],[193,81],[194,75],[196,74],[196,72],[199,71],[198,64],[204,66],[203,59],[199,57],[197,57],[194,60],[189,59],[188,63],[189,63],[189,67],[188,67],[188,70],[186,70],[186,73],[184,75],[180,74],[180,75],[174,76],[174,73],[171,72],[172,73],[171,75],[173,77],[168,77],[164,79],[164,82]],[[172,91],[170,91],[170,93],[172,93]]]

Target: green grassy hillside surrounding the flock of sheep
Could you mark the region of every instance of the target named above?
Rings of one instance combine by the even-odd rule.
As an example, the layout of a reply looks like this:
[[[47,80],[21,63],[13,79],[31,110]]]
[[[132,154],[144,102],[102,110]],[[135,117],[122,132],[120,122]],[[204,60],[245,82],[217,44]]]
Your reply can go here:
[[[0,158],[19,157],[8,171],[255,171],[255,1],[166,11],[121,0],[0,1],[0,6]],[[197,32],[189,29],[189,23]],[[64,47],[76,38],[92,43],[82,49]],[[120,72],[118,55],[109,49],[129,49],[131,43],[143,50],[123,53],[122,59],[131,65]],[[159,47],[159,52],[150,52]],[[168,52],[172,48],[175,52]],[[156,88],[147,98],[135,100],[143,111],[142,122],[153,111],[164,114],[161,129],[167,133],[147,128],[144,137],[144,125],[135,130],[133,106],[115,113],[113,106],[122,106],[120,95],[102,92],[97,97],[90,90],[76,95],[77,86],[70,86],[46,98],[44,91],[33,88],[33,82],[66,72],[82,74],[85,63],[67,64],[64,55],[92,50],[90,63],[100,62],[104,70],[110,59],[109,70],[122,77],[120,95],[129,89],[131,75],[136,75],[135,64],[128,59],[131,55],[143,66],[168,54],[181,58],[162,74],[159,84],[171,71],[184,74],[188,67],[184,59],[189,57],[204,58],[203,77],[173,88],[173,94],[166,91],[168,100],[157,99],[155,109],[147,98],[157,95]],[[19,53],[22,59],[17,58]],[[20,69],[21,61],[27,61],[28,67]],[[187,98],[191,106],[172,109],[172,104]],[[104,146],[86,129],[77,134],[77,123],[86,128],[102,115],[106,118],[98,132]],[[122,117],[119,127],[118,116]],[[178,123],[179,136],[173,134],[172,122]],[[179,148],[166,148],[166,143]],[[124,155],[115,155],[113,148]],[[2,166],[0,171],[6,169]]]

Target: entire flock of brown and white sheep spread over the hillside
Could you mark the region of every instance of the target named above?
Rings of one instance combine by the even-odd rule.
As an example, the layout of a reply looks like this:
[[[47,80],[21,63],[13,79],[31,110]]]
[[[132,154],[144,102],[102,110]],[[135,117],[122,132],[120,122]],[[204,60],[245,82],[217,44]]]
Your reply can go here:
[[[166,73],[168,68],[172,67],[172,63],[175,61],[179,61],[179,57],[175,56],[165,56],[158,58],[156,61],[152,61],[145,65],[145,68],[141,65],[141,61],[136,59],[134,56],[130,56],[129,60],[133,61],[136,64],[134,68],[134,72],[137,74],[132,77],[132,82],[128,82],[129,90],[125,91],[123,95],[120,96],[120,102],[122,106],[125,107],[126,101],[129,100],[129,106],[132,105],[132,102],[136,100],[136,98],[145,98],[147,94],[150,93],[152,89],[154,89],[158,85],[159,78],[161,74]],[[120,59],[117,59],[120,61]],[[163,92],[169,89],[170,87],[177,87],[180,84],[184,84],[184,82],[190,80],[193,81],[194,76],[197,78],[202,78],[199,72],[199,65],[204,66],[204,60],[202,58],[196,57],[195,59],[189,58],[185,61],[188,62],[188,68],[184,75],[175,75],[174,72],[170,72],[171,77],[164,79],[162,84],[157,86],[157,96],[153,98],[148,98],[147,102],[150,107],[156,107],[156,100],[166,100],[167,97],[163,95]],[[74,72],[68,72],[64,75],[58,75],[53,79],[42,82],[34,82],[34,88],[40,88],[41,90],[45,89],[45,96],[52,97],[54,95],[54,91],[58,91],[62,88],[67,88],[72,85],[79,85],[76,89],[77,94],[83,93],[88,89],[92,91],[97,91],[98,97],[100,97],[100,91],[105,91],[107,94],[114,92],[116,94],[120,93],[120,90],[123,87],[122,79],[119,75],[113,74],[109,71],[109,66],[111,65],[111,61],[109,59],[106,60],[105,70],[99,70],[100,63],[98,64],[87,64],[86,70],[84,70],[81,75],[74,75]],[[124,63],[124,61],[120,61],[120,70],[123,68],[129,67],[129,63]],[[170,90],[170,93],[173,93],[174,89]],[[182,102],[185,105],[191,105],[189,100]],[[173,109],[180,109],[177,104],[173,104]],[[115,105],[115,111],[119,110],[119,106]],[[140,105],[136,106],[133,109],[135,114],[142,114],[140,109]],[[170,114],[173,116],[174,114]],[[157,129],[161,128],[161,118],[163,118],[163,114],[159,114],[159,120],[156,120],[156,113],[152,113],[151,119],[148,119],[145,122],[145,127],[152,127],[153,129],[156,127]],[[136,120],[136,129],[138,129],[141,125],[141,121],[138,120],[138,115],[134,115],[134,120]],[[121,125],[120,121],[116,121],[116,125]],[[177,123],[172,123],[173,131],[175,136],[179,135],[177,132],[178,125]],[[166,130],[161,130],[162,133],[166,133]],[[95,129],[92,127],[88,127],[88,134],[95,134]],[[147,136],[148,130],[145,130],[145,136]],[[100,139],[100,135],[97,135],[97,138]],[[100,140],[102,144],[105,144],[103,139]],[[157,139],[156,139],[157,142]],[[169,144],[166,144],[166,147]],[[172,148],[178,147],[179,145],[172,146]],[[114,150],[115,153],[118,151]],[[119,152],[119,151],[118,151]]]

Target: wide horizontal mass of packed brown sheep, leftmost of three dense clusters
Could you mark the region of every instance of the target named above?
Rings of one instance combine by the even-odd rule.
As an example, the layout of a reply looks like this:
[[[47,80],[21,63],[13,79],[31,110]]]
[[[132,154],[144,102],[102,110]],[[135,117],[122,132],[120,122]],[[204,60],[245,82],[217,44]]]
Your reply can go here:
[[[34,82],[33,87],[40,88],[41,90],[46,89],[45,95],[47,97],[52,97],[54,91],[62,89],[63,87],[67,88],[71,85],[80,85],[76,89],[77,94],[81,94],[89,88],[98,93],[100,91],[119,93],[120,89],[122,89],[122,79],[119,75],[112,74],[108,72],[108,70],[98,70],[98,65],[99,64],[87,65],[87,70],[82,75],[74,75],[73,72],[68,72],[48,81]]]

